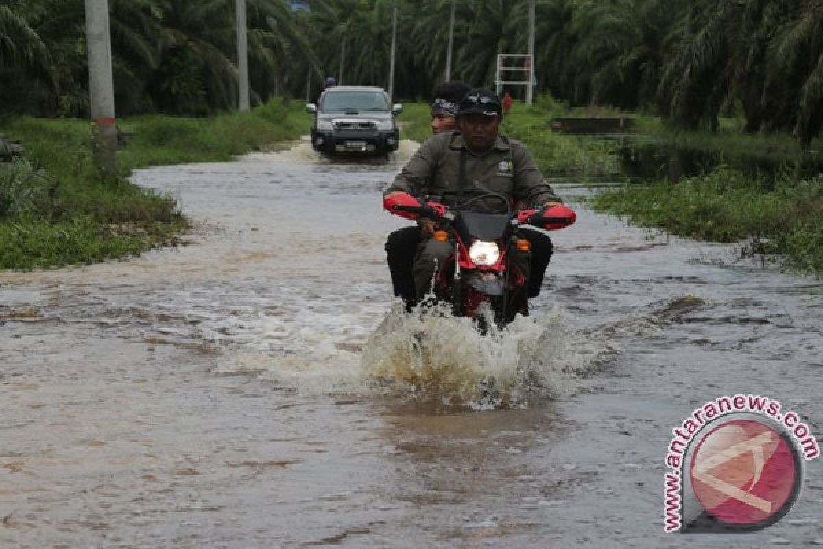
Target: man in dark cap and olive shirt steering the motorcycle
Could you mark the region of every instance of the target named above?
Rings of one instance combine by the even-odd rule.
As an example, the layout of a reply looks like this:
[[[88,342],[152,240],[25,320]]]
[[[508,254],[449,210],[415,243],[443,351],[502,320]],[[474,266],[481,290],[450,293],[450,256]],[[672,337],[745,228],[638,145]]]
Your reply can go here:
[[[428,139],[408,162],[394,183],[386,189],[384,198],[395,193],[409,193],[454,207],[458,196],[463,201],[490,192],[500,193],[509,200],[519,200],[529,207],[549,208],[560,204],[551,186],[522,143],[500,134],[503,107],[500,97],[485,89],[474,89],[458,105],[459,132],[442,132]],[[464,169],[461,170],[461,164]],[[460,182],[460,173],[465,181]],[[463,188],[460,188],[460,184]],[[504,212],[500,199],[481,198],[473,202],[477,210]],[[531,270],[528,296],[540,291],[543,272],[551,258],[551,240],[538,231],[523,231],[532,242],[532,260],[524,254],[518,263]],[[428,234],[426,236],[429,236]],[[430,289],[437,263],[452,252],[451,244],[427,239],[414,260],[415,295],[420,300]],[[535,284],[537,282],[537,285]]]

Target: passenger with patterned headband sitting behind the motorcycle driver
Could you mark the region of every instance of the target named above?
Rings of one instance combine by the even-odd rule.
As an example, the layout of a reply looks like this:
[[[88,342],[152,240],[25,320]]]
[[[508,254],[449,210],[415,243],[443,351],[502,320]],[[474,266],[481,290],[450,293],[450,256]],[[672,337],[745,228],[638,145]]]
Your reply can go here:
[[[471,90],[471,86],[462,81],[443,82],[432,91],[435,100],[431,104],[431,131],[434,133],[450,132],[458,129],[458,105],[460,100]],[[394,295],[401,297],[411,309],[415,301],[412,268],[417,246],[421,238],[429,238],[435,232],[435,221],[418,219],[419,227],[410,226],[395,230],[386,240],[386,262],[388,272],[392,275]]]

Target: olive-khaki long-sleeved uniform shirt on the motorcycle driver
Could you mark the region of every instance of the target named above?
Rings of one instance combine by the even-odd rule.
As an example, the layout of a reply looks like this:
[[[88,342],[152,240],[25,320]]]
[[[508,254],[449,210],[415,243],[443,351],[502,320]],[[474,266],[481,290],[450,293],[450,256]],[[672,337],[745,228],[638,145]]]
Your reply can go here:
[[[384,194],[405,191],[414,197],[435,197],[453,207],[458,198],[461,149],[466,149],[463,202],[490,191],[522,200],[527,206],[560,202],[522,143],[498,134],[491,149],[476,155],[457,131],[427,139]],[[481,198],[472,202],[472,209],[503,213],[506,208],[500,198]]]

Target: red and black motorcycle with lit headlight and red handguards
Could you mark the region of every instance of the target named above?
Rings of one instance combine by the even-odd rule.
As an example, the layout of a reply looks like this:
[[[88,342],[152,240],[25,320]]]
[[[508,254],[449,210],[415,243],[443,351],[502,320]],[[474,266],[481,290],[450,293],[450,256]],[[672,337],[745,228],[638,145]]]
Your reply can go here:
[[[506,213],[472,212],[474,202],[491,197],[505,202]],[[486,320],[480,314],[481,305],[491,307],[500,328],[517,314],[528,315],[528,272],[523,272],[516,254],[528,254],[531,243],[519,234],[519,226],[559,230],[577,218],[563,205],[545,211],[523,208],[513,212],[509,199],[498,193],[482,194],[453,209],[440,202],[423,202],[408,193],[395,193],[384,200],[384,209],[406,219],[429,218],[444,227],[432,238],[449,242],[454,252],[435,271],[435,296],[451,305],[454,316],[477,320],[483,332]]]

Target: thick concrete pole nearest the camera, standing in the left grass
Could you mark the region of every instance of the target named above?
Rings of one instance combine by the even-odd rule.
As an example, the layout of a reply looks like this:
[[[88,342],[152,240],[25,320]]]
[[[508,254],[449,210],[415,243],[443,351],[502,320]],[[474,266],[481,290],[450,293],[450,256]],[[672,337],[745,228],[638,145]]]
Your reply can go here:
[[[101,170],[114,174],[117,168],[117,127],[114,125],[109,0],[86,0],[86,43],[95,162]]]

